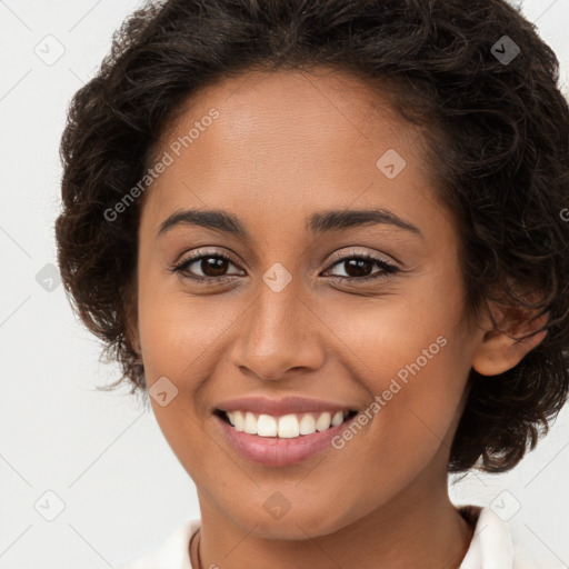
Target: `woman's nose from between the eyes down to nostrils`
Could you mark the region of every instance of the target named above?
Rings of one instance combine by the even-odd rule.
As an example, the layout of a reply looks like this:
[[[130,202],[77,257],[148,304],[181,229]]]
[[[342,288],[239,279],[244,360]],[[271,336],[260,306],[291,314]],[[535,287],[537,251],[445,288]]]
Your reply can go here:
[[[311,368],[321,362],[311,316],[291,277],[282,266],[264,273],[231,350],[236,366],[249,368],[263,379],[277,379],[290,368]]]

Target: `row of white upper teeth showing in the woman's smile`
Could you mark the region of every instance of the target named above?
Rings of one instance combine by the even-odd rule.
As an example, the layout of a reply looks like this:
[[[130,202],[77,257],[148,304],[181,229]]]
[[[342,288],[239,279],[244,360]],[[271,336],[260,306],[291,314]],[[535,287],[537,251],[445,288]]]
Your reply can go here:
[[[322,413],[283,415],[271,417],[270,415],[254,415],[243,411],[227,411],[229,422],[238,431],[259,437],[279,437],[281,439],[295,439],[301,435],[312,435],[317,431],[326,431],[330,427],[337,427],[348,417],[349,411],[338,411],[333,415],[329,411]],[[299,420],[300,417],[300,420]]]

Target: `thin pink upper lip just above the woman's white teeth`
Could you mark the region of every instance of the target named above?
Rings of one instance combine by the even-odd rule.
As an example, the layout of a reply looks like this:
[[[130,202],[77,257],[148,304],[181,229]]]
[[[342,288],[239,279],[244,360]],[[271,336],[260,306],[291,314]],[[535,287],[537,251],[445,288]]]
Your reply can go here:
[[[336,401],[323,401],[307,399],[303,397],[283,397],[281,399],[268,399],[266,397],[244,397],[220,402],[217,407],[220,411],[250,411],[253,413],[266,413],[280,417],[290,413],[310,411],[356,411],[357,409],[346,403]]]

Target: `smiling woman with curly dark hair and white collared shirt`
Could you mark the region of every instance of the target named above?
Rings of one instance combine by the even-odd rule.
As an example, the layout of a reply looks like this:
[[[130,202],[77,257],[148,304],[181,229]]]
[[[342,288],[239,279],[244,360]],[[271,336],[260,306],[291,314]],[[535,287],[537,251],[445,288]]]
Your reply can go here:
[[[124,568],[538,567],[447,487],[567,400],[557,79],[502,0],[126,22],[70,108],[59,262],[201,518]]]

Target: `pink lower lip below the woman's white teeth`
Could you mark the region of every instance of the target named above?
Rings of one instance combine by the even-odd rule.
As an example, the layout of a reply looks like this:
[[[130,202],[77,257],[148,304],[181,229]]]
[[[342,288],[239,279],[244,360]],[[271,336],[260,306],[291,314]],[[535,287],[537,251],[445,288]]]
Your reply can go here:
[[[288,467],[307,460],[327,447],[332,448],[331,440],[357,417],[312,435],[301,435],[293,439],[278,437],[259,437],[238,431],[218,415],[213,416],[230,445],[244,458],[267,467]]]

